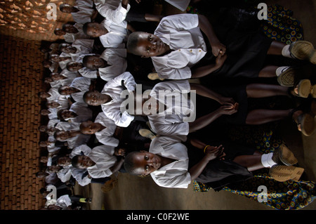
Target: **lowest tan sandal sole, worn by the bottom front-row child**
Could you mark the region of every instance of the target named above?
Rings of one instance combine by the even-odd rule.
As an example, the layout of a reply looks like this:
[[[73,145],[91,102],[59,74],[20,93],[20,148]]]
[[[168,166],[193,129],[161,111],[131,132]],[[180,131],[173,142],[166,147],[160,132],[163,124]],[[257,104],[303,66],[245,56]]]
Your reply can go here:
[[[269,175],[279,182],[284,182],[287,180],[298,181],[301,178],[303,172],[304,169],[301,167],[275,165],[269,170]]]

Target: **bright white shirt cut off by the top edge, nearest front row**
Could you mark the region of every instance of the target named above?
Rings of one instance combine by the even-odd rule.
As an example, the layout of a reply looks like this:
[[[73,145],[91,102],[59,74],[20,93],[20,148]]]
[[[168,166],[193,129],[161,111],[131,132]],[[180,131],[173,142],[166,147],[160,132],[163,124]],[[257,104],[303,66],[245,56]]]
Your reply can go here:
[[[125,20],[126,14],[131,8],[129,4],[127,8],[121,6],[121,0],[95,0],[94,3],[100,15],[117,24]]]

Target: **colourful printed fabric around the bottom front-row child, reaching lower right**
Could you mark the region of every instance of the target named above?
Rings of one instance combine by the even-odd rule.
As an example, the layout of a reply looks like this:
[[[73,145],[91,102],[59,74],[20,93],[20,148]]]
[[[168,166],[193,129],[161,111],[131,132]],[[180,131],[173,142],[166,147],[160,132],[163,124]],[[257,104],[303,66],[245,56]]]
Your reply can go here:
[[[272,135],[273,130],[267,126],[263,128],[253,129],[251,127],[235,127],[230,129],[228,136],[232,140],[242,143],[246,140],[247,144],[255,144],[258,151],[263,153],[273,152],[277,150],[283,143],[279,138]],[[241,131],[242,130],[242,131]],[[267,195],[264,198],[259,186],[265,186]],[[195,191],[207,192],[211,187],[198,183],[193,183]],[[312,181],[293,181],[278,182],[268,176],[268,169],[261,169],[254,172],[254,178],[246,180],[234,187],[224,187],[223,190],[232,192],[235,195],[242,195],[258,201],[258,197],[263,199],[263,204],[279,210],[302,209],[308,206],[315,199],[315,183]],[[266,199],[266,200],[265,200]]]

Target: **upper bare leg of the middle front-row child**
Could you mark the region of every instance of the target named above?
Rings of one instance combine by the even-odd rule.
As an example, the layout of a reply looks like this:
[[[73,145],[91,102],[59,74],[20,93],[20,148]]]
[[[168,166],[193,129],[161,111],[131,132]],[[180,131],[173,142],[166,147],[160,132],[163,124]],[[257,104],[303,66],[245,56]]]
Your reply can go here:
[[[249,98],[265,98],[274,95],[288,95],[288,87],[270,84],[249,84],[246,93]]]

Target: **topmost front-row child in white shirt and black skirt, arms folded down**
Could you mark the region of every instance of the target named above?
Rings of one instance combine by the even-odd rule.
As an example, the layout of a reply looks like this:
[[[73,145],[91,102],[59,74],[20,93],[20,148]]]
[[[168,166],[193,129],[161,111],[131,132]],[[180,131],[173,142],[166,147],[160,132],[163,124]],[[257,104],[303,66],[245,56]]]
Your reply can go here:
[[[194,79],[207,74],[213,77],[277,77],[285,72],[284,67],[263,67],[266,55],[287,58],[294,55],[294,58],[311,58],[310,61],[315,62],[312,59],[315,49],[307,41],[297,41],[289,48],[256,32],[241,32],[230,27],[218,27],[215,32],[204,15],[195,14],[167,16],[154,34],[133,32],[127,48],[136,55],[151,57],[161,79]],[[301,57],[298,56],[301,53]],[[293,80],[293,71],[287,76]]]

